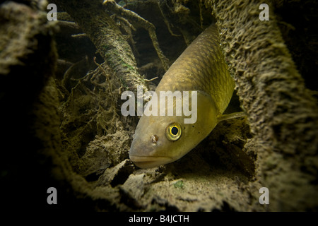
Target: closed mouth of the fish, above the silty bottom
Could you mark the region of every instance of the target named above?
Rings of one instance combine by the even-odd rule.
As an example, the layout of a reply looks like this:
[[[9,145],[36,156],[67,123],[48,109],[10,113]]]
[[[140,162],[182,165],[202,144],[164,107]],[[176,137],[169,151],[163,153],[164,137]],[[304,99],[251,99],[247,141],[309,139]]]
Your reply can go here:
[[[137,167],[141,169],[158,167],[160,165],[165,165],[169,162],[172,162],[172,158],[161,157],[161,156],[149,157],[149,156],[129,155],[129,158],[131,161],[134,162],[134,164]]]

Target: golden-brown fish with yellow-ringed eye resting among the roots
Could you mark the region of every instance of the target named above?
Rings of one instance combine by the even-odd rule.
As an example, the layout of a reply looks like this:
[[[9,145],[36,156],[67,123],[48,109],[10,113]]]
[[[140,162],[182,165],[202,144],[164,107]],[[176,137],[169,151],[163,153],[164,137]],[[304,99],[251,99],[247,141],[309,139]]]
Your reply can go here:
[[[155,89],[157,96],[160,91],[196,91],[196,121],[186,124],[184,115],[143,114],[129,150],[130,160],[146,169],[174,162],[189,153],[226,118],[223,112],[234,88],[235,82],[220,49],[218,29],[212,24],[189,44]],[[176,107],[176,98],[173,106]]]

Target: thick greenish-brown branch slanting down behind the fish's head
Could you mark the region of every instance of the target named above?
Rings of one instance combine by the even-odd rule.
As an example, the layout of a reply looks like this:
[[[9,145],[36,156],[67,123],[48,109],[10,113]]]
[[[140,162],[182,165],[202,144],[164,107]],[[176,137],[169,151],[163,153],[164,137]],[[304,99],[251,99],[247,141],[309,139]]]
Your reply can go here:
[[[99,0],[52,0],[63,8],[95,44],[102,58],[119,77],[122,86],[136,91],[138,85],[148,90],[146,82],[137,72],[131,47],[114,20],[101,7]]]

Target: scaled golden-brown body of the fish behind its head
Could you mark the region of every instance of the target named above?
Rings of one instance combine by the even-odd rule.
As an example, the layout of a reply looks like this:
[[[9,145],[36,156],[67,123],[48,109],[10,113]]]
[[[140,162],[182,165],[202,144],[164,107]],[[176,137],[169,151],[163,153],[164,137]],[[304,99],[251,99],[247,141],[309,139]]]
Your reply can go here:
[[[170,66],[156,91],[204,91],[222,114],[232,97],[234,81],[219,45],[218,30],[211,25]]]

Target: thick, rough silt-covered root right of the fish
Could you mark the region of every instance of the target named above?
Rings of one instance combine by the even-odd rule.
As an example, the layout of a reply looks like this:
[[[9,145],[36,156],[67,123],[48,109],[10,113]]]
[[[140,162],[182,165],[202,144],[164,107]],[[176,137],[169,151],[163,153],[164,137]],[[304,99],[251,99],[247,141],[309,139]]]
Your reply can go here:
[[[213,8],[248,114],[254,137],[245,148],[258,156],[257,180],[271,192],[269,210],[317,208],[318,186],[312,183],[318,169],[317,104],[285,46],[274,6],[269,4],[270,19],[264,22],[259,1],[205,4]]]

